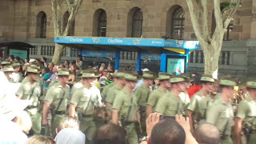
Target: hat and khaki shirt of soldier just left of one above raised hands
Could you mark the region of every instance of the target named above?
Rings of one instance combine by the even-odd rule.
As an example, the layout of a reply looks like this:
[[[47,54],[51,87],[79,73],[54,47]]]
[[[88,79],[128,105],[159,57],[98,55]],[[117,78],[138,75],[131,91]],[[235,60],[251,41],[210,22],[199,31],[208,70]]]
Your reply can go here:
[[[160,72],[160,73],[158,74],[158,78],[157,78],[157,79],[158,79],[159,81],[169,80],[169,79],[170,79],[170,75]],[[168,92],[168,90],[164,91],[164,90],[162,89],[162,87],[159,86],[156,90],[154,90],[154,91],[150,94],[150,96],[149,96],[149,98],[148,98],[148,100],[147,100],[147,105],[148,105],[148,106],[153,106],[153,111],[154,111],[155,106],[156,106],[157,103],[158,103],[158,99],[159,99],[160,97],[162,97],[162,95],[166,94],[167,92]]]

